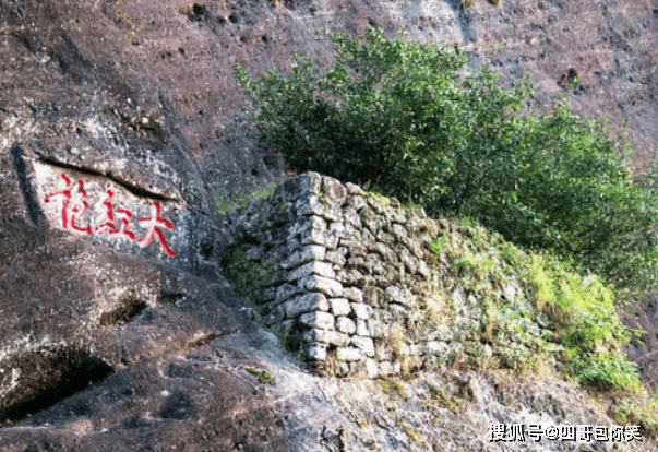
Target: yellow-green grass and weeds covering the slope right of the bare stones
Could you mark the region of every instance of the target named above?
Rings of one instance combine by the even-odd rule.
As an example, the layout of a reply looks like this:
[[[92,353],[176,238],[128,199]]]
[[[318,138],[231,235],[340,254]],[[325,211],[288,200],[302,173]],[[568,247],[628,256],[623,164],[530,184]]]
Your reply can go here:
[[[509,368],[518,376],[553,362],[566,378],[607,399],[618,423],[641,425],[644,435],[656,438],[658,399],[642,388],[636,365],[625,359],[634,332],[617,314],[612,286],[594,274],[579,275],[550,252],[525,251],[472,221],[450,223],[432,247],[447,271],[441,298],[462,286],[482,308],[480,331],[463,341],[463,355],[452,357],[452,367],[486,374]],[[491,264],[464,265],[465,260]],[[516,287],[514,296],[504,295],[510,286]],[[439,309],[452,309],[445,305]],[[487,357],[483,344],[493,356]],[[445,399],[430,392],[436,401]]]

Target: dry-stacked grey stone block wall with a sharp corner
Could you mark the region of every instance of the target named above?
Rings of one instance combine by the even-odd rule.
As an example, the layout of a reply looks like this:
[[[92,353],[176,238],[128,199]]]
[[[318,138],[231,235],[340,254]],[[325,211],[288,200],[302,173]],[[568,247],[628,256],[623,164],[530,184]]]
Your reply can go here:
[[[308,173],[227,215],[222,249],[254,269],[275,263],[262,283],[253,271],[250,295],[266,326],[301,338],[306,360],[374,378],[454,352],[446,323],[428,328],[428,309],[440,317],[442,302],[431,243],[445,228],[421,209]],[[466,302],[463,290],[453,298]]]

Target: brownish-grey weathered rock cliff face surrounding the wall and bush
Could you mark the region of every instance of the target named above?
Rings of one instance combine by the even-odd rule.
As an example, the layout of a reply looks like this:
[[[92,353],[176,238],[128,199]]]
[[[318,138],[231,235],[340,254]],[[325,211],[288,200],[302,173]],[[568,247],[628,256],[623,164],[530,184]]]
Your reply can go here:
[[[415,414],[443,379],[477,417],[500,395],[479,377],[430,376],[408,400],[361,388],[400,407],[376,417],[345,397],[356,386],[301,372],[251,321],[215,258],[214,199],[285,166],[247,133],[231,67],[284,69],[294,51],[327,66],[325,29],[405,26],[505,80],[533,70],[545,98],[577,75],[576,111],[627,116],[643,166],[658,141],[656,11],[636,0],[0,0],[0,449],[503,450],[487,423],[519,419],[510,397],[468,428],[445,406]],[[653,309],[635,350],[649,370]],[[550,384],[560,389],[536,411],[606,423]],[[363,418],[378,419],[368,435]]]

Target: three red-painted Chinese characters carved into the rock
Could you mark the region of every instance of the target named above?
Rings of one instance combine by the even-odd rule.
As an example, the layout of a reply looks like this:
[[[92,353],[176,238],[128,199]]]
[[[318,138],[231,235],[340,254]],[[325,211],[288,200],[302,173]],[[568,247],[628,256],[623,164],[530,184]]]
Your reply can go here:
[[[65,188],[61,191],[53,192],[46,195],[45,201],[49,203],[52,199],[61,200],[61,221],[62,228],[67,230],[73,230],[76,233],[83,233],[86,236],[92,235],[92,226],[87,225],[85,227],[80,226],[79,221],[86,215],[89,204],[87,202],[87,192],[84,189],[84,181],[79,179],[75,183],[77,189],[73,189],[74,186],[71,178],[69,178],[65,174],[61,174],[61,178],[65,183]],[[125,209],[115,209],[112,204],[112,198],[115,192],[111,190],[107,190],[106,197],[103,202],[99,204],[100,211],[96,218],[96,227],[94,228],[94,233],[96,236],[108,235],[110,237],[123,237],[128,238],[132,241],[135,240],[136,236],[133,231],[129,229],[130,221],[133,216],[132,212]],[[158,201],[153,201],[152,206],[152,217],[149,218],[140,218],[140,226],[145,228],[146,235],[137,240],[137,245],[141,248],[146,248],[155,238],[160,245],[160,249],[165,254],[170,258],[174,258],[176,253],[169,248],[165,235],[163,233],[163,228],[167,230],[171,230],[174,225],[170,221],[163,218],[160,216],[161,207]],[[117,226],[116,221],[119,219],[121,223]]]

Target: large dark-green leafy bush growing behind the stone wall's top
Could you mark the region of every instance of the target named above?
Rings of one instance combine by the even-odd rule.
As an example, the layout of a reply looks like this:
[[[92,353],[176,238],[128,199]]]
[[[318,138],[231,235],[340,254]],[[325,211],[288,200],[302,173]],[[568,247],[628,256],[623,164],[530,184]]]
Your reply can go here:
[[[538,114],[529,75],[501,86],[457,49],[332,34],[336,63],[295,56],[261,81],[236,67],[259,132],[297,170],[376,188],[432,214],[471,216],[505,238],[571,257],[625,287],[656,287],[654,190],[630,145],[566,98]]]

